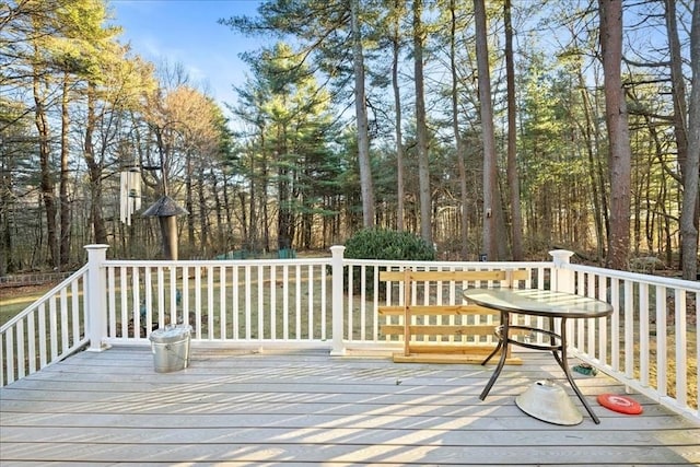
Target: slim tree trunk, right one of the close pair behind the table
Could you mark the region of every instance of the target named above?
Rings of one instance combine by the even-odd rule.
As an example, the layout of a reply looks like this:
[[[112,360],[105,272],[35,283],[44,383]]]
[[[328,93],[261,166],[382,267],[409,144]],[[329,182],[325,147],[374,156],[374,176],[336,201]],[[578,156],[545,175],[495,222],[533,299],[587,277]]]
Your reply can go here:
[[[511,25],[511,0],[503,4],[505,22],[505,79],[508,94],[508,186],[511,198],[511,238],[513,241],[513,259],[523,259],[523,214],[521,213],[521,184],[517,173],[517,154],[515,142],[515,66],[513,63],[513,26]]]

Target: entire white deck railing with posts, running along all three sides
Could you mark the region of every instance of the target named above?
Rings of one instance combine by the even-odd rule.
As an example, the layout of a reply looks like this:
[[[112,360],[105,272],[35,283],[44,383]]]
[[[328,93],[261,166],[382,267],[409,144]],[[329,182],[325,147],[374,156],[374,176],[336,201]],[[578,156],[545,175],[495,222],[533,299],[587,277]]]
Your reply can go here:
[[[697,336],[689,318],[697,316],[700,282],[571,265],[571,253],[561,250],[552,252],[551,262],[346,259],[341,246],[329,258],[132,261],[106,260],[106,245],[86,248],[84,268],[0,328],[0,385],[86,345],[90,351],[148,346],[152,329],[183,322],[192,326],[195,346],[314,346],[337,355],[390,351],[401,342],[381,335],[376,310],[400,304],[404,293],[398,283],[380,284],[380,270],[526,269],[524,287],[614,305],[610,318],[569,322],[580,358],[700,420],[698,347],[687,328],[696,323]],[[411,296],[450,305],[462,303],[464,288],[494,285],[427,283]],[[541,319],[535,325],[546,327]]]

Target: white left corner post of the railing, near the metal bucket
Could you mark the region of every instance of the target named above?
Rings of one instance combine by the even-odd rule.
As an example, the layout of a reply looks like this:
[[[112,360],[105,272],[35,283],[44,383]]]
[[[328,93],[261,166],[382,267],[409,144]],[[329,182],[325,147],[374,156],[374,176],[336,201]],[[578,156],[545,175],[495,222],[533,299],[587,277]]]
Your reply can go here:
[[[85,331],[90,338],[89,352],[102,352],[107,347],[103,340],[107,330],[106,280],[102,264],[107,258],[109,245],[86,245],[88,250],[88,310]]]

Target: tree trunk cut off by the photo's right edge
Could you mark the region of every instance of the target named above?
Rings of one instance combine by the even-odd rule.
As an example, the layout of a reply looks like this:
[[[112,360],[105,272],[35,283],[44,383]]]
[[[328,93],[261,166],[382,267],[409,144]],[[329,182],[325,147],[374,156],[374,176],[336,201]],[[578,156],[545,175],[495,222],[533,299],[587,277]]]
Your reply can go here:
[[[698,178],[700,178],[700,4],[692,8],[690,67],[692,90],[688,116],[688,159],[684,173],[684,198],[680,213],[682,278],[698,278]]]

